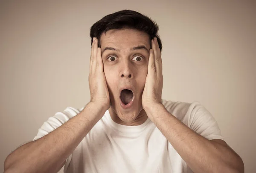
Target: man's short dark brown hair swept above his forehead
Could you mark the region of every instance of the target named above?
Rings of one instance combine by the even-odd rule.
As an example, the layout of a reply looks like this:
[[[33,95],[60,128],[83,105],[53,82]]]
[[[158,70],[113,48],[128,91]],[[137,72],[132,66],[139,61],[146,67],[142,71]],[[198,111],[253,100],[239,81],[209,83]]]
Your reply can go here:
[[[140,14],[133,10],[122,10],[112,14],[108,14],[98,22],[94,23],[90,28],[91,45],[93,43],[93,37],[99,40],[100,47],[100,36],[102,33],[106,33],[111,29],[137,29],[143,31],[149,35],[149,42],[157,37],[159,48],[162,52],[162,42],[158,35],[159,27],[156,22],[150,19],[150,17]],[[151,42],[150,42],[151,45]]]

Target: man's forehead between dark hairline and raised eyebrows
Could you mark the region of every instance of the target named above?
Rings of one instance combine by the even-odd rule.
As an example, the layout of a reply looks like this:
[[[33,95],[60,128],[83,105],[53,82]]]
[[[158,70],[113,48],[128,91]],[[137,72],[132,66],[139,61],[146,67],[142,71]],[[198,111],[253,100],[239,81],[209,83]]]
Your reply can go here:
[[[145,45],[150,49],[150,40],[148,34],[135,29],[111,29],[102,33],[100,37],[101,48],[107,46],[128,49],[137,45]]]

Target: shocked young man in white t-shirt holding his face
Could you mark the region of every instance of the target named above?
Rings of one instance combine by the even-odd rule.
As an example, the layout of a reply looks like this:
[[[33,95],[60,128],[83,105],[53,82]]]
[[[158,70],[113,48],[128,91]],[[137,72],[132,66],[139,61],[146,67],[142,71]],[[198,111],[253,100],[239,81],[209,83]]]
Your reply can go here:
[[[91,27],[90,102],[56,113],[17,148],[5,173],[243,173],[198,102],[162,100],[158,27],[136,11]]]

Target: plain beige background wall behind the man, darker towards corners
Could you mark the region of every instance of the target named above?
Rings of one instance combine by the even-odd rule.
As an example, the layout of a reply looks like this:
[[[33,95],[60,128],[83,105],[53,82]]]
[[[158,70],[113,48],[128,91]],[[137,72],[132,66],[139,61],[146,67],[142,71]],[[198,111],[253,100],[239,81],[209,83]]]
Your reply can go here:
[[[90,26],[122,9],[160,26],[163,99],[201,102],[255,172],[256,3],[235,0],[0,1],[0,171],[49,116],[89,101]]]

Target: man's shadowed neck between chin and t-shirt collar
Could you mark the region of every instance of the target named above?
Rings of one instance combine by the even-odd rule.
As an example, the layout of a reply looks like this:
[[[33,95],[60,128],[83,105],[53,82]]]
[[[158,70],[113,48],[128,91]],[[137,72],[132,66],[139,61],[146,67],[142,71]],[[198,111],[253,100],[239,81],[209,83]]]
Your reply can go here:
[[[116,122],[117,124],[120,124],[120,125],[127,125],[127,126],[142,125],[148,119],[148,116],[144,109],[142,109],[139,115],[136,117],[136,119],[134,119],[131,122],[122,121],[111,107],[109,108],[109,114],[113,122]]]

